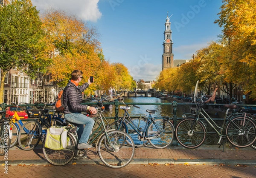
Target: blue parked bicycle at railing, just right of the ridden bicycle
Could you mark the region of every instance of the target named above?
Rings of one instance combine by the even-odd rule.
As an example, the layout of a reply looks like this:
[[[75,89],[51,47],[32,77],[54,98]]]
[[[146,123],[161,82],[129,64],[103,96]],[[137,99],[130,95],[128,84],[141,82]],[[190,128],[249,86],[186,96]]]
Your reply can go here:
[[[136,147],[143,147],[144,145],[151,144],[155,148],[166,148],[168,147],[174,138],[174,126],[170,121],[169,117],[153,118],[152,114],[156,110],[146,110],[149,113],[148,118],[133,118],[129,116],[128,110],[131,107],[137,107],[136,105],[121,106],[120,109],[124,110],[122,118],[111,124],[111,128],[116,130],[123,130],[128,133],[134,141]]]

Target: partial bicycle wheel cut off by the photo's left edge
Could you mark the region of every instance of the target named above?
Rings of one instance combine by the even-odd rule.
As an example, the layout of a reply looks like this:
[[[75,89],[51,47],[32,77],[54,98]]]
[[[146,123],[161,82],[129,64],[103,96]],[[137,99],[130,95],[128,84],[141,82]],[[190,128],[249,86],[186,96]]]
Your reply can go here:
[[[11,144],[11,139],[9,138],[9,131],[6,121],[0,122],[0,156],[8,153],[8,149]]]

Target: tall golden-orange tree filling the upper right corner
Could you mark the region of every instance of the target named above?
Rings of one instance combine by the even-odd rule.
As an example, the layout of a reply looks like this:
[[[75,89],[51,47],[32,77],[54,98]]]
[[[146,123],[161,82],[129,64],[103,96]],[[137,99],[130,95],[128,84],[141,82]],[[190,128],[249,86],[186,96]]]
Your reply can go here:
[[[256,98],[256,1],[223,0],[219,19],[227,48],[223,57],[226,80],[245,82],[244,89]],[[223,70],[223,71],[224,71]]]

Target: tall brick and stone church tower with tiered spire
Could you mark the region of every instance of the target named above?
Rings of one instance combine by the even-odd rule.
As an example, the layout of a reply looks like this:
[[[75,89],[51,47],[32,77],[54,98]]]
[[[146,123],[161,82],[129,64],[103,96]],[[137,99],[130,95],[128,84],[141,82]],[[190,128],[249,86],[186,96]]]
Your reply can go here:
[[[172,30],[171,30],[171,23],[170,18],[166,18],[165,23],[165,31],[164,31],[164,41],[163,41],[163,67],[162,70],[166,68],[173,68],[173,54],[172,54]]]

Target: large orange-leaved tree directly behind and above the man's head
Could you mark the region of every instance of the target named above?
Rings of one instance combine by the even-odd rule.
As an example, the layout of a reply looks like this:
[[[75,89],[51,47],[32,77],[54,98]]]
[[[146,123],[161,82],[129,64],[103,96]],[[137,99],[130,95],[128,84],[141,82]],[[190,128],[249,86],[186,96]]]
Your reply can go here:
[[[75,69],[83,71],[83,82],[87,82],[89,76],[96,76],[102,63],[96,30],[75,15],[54,9],[42,16],[42,22],[51,51],[52,65],[48,71],[52,73],[52,79],[64,87]],[[96,88],[95,84],[90,88]]]

